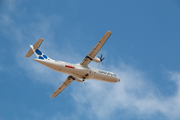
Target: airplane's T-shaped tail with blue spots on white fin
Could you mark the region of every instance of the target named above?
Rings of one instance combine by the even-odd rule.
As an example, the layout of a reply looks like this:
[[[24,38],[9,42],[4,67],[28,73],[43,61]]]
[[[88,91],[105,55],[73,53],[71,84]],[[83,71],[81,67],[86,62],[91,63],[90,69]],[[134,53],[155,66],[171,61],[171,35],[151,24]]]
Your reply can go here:
[[[25,57],[30,57],[34,53],[37,59],[52,60],[39,50],[39,47],[42,42],[43,42],[43,39],[39,38],[39,40],[34,45],[30,45],[31,49],[28,51]]]

